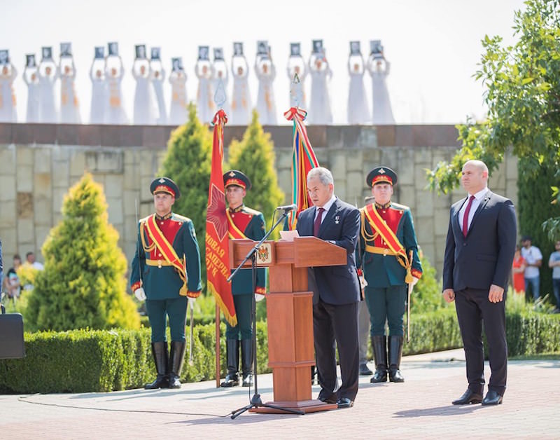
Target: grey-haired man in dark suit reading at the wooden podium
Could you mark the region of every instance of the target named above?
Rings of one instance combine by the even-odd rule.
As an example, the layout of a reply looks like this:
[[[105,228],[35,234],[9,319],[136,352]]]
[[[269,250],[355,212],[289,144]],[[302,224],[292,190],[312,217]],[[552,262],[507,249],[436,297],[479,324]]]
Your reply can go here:
[[[346,249],[346,265],[309,268],[309,290],[313,291],[313,333],[317,359],[318,399],[353,406],[358,393],[358,301],[356,243],[360,212],[335,196],[332,174],[316,167],[307,174],[307,192],[313,207],[300,212],[297,232],[314,235]],[[338,347],[342,385],[337,385],[335,341]]]

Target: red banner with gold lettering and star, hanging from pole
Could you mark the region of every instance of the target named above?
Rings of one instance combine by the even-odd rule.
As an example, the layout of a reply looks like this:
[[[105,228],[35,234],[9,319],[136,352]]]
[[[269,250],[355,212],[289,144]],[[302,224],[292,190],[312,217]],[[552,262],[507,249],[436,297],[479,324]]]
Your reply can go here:
[[[208,190],[206,217],[206,267],[207,287],[214,294],[225,319],[235,326],[237,315],[233,303],[230,276],[230,237],[228,216],[225,213],[225,191],[223,187],[223,126],[228,123],[225,111],[214,116],[214,142],[212,144],[212,170]]]

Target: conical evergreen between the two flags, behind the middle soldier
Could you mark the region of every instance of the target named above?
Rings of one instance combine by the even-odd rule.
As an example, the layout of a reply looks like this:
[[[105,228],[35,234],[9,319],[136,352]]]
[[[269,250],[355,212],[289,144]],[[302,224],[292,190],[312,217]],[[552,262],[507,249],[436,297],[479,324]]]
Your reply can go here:
[[[258,113],[253,110],[253,120],[248,125],[241,141],[233,140],[229,148],[229,164],[233,170],[244,172],[253,188],[247,191],[244,200],[248,207],[257,209],[265,216],[267,229],[272,226],[274,209],[284,200],[274,170],[274,143],[270,134],[262,130]],[[273,238],[278,236],[274,231]]]

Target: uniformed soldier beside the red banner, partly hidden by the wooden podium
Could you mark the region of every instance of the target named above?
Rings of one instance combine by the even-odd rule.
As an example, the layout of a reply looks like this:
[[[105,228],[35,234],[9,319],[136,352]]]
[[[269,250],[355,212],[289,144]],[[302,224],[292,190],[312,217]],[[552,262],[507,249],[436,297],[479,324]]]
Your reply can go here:
[[[238,170],[230,170],[223,175],[225,198],[229,208],[228,216],[230,238],[250,238],[260,240],[265,236],[265,217],[261,212],[246,207],[243,199],[251,189],[251,181]],[[235,268],[232,268],[235,269]],[[265,294],[265,268],[257,269],[257,284],[253,291],[251,269],[239,270],[232,280],[233,303],[237,315],[237,326],[225,323],[225,350],[228,358],[228,374],[221,383],[222,387],[239,385],[239,345],[241,345],[241,371],[243,372],[243,386],[251,385],[251,345],[252,322],[251,309],[253,294]]]

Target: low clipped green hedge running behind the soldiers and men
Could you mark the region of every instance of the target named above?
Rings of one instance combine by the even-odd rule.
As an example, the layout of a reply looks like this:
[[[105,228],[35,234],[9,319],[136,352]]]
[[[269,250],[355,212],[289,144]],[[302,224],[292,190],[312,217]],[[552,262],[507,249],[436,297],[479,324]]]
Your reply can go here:
[[[412,319],[406,355],[460,348],[453,308]],[[187,329],[188,330],[188,329]],[[225,326],[221,326],[221,373],[225,371]],[[267,329],[257,323],[258,372],[267,366]],[[196,382],[215,378],[214,324],[195,326],[193,362],[187,352],[181,380]],[[510,356],[560,352],[560,315],[535,312],[507,315]],[[107,392],[141,387],[155,377],[150,331],[75,330],[25,334],[25,359],[0,360],[0,392]]]

